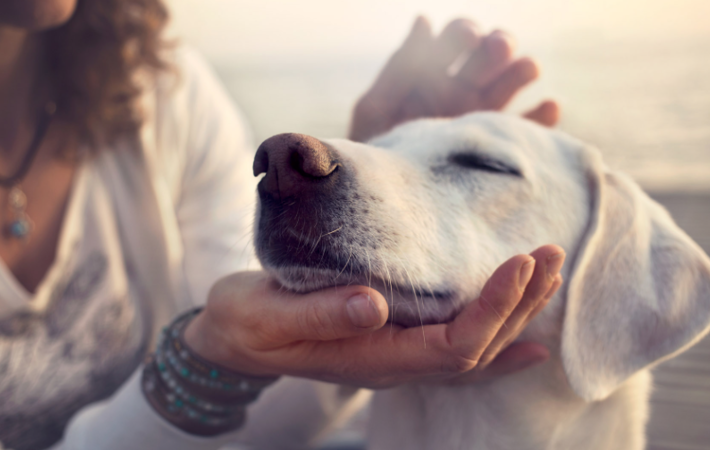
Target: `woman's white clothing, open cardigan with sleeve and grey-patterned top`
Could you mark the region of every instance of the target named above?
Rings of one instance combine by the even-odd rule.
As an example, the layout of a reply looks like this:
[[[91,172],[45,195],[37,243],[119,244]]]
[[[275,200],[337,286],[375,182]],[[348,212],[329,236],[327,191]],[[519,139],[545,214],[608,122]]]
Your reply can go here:
[[[353,391],[285,378],[249,409],[242,430],[201,438],[143,397],[140,361],[160,328],[204,303],[219,277],[259,269],[245,122],[199,57],[186,49],[173,57],[176,73],[145,90],[139,141],[78,170],[56,260],[36,294],[0,264],[6,448],[294,448],[354,404]]]

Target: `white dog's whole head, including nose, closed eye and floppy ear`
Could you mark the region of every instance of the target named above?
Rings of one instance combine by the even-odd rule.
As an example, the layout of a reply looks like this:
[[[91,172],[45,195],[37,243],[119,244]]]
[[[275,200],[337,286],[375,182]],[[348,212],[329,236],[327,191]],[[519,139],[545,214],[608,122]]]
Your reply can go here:
[[[278,135],[254,172],[263,266],[301,292],[370,285],[405,326],[451,318],[508,257],[561,245],[563,359],[588,399],[710,320],[710,263],[665,211],[595,150],[522,119],[422,120],[369,144]]]

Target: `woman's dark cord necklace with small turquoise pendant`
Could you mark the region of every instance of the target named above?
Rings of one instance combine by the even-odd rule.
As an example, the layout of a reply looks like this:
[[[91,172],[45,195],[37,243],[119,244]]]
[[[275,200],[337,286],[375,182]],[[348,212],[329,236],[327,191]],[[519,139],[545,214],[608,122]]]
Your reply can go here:
[[[27,172],[32,166],[32,161],[34,161],[37,151],[39,150],[40,144],[44,139],[44,135],[47,134],[47,129],[49,128],[49,123],[52,121],[52,116],[57,110],[57,106],[54,102],[48,102],[44,110],[42,111],[42,116],[37,124],[37,130],[32,138],[30,146],[25,152],[25,156],[20,162],[20,167],[17,168],[15,173],[8,176],[0,176],[0,186],[4,188],[10,188],[10,193],[8,199],[10,202],[10,207],[14,213],[14,219],[7,225],[4,226],[4,235],[14,238],[14,239],[26,239],[32,232],[34,228],[34,223],[30,217],[25,212],[27,207],[27,196],[22,192],[20,187],[20,181],[27,175]]]

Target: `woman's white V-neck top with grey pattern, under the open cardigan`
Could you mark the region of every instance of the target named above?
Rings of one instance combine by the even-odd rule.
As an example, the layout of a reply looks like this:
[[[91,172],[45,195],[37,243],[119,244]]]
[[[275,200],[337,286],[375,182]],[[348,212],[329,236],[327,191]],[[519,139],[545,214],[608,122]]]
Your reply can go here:
[[[112,197],[96,172],[77,177],[37,292],[11,289],[0,271],[0,441],[10,448],[59,439],[78,410],[125,382],[150,342],[151,310]]]

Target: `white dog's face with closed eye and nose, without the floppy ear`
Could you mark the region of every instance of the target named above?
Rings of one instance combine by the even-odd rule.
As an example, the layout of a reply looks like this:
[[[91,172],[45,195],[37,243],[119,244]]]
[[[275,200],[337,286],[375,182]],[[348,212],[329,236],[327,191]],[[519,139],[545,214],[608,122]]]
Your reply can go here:
[[[493,269],[539,243],[571,249],[588,221],[579,155],[499,115],[419,121],[368,145],[264,142],[257,253],[284,286],[365,284],[404,325],[448,319]]]

